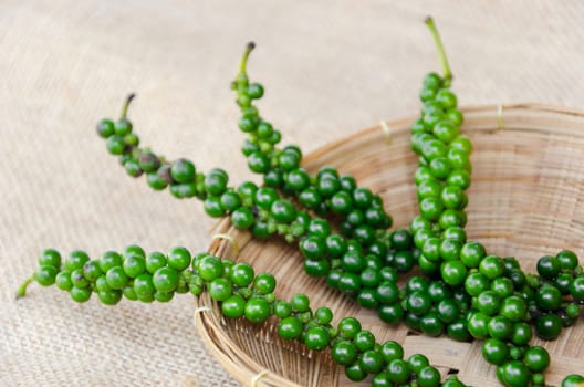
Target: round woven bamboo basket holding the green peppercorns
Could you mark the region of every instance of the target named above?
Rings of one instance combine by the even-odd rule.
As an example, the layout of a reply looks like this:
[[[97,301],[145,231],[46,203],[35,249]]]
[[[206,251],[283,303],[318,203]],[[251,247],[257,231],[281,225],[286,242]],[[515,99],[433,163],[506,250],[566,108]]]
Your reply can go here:
[[[584,257],[584,112],[535,104],[469,107],[463,109],[463,133],[474,145],[472,186],[469,190],[467,232],[470,240],[486,244],[500,257],[517,257],[522,268],[535,272],[543,254],[572,249]],[[356,177],[359,186],[378,192],[395,227],[405,227],[417,213],[413,176],[417,158],[409,148],[413,117],[355,133],[304,158],[309,171],[331,165]],[[457,373],[473,386],[497,386],[494,368],[482,359],[480,342],[458,343],[392,327],[375,312],[307,276],[298,249],[283,241],[260,242],[248,232],[220,221],[213,233],[232,241],[213,239],[209,251],[246,261],[255,272],[269,271],[278,279],[277,295],[289,300],[296,292],[309,295],[313,307],[326,305],[337,322],[356,316],[378,341],[404,345],[406,356],[423,353],[442,376]],[[275,323],[252,325],[228,321],[217,303],[204,294],[197,301],[195,324],[217,359],[248,386],[355,386],[330,353],[311,353],[296,343],[278,337]],[[580,318],[545,346],[552,364],[550,385],[584,370],[584,322]],[[368,379],[363,381],[368,385]]]

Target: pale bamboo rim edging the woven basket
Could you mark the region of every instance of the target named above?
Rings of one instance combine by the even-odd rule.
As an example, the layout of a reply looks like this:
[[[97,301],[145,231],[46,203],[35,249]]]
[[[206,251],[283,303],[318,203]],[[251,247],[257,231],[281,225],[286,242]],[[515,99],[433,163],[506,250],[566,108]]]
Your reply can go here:
[[[576,119],[584,119],[584,109],[577,109],[572,107],[563,107],[559,105],[541,104],[541,103],[508,103],[508,104],[486,104],[486,105],[470,105],[462,106],[460,111],[465,114],[483,114],[486,117],[493,117],[493,125],[489,127],[473,127],[472,129],[479,130],[497,130],[497,123],[499,119],[505,117],[513,117],[513,115],[520,115],[522,113],[534,113],[534,114],[551,114],[560,117],[575,117]],[[504,112],[504,113],[503,113]],[[372,132],[379,132],[380,125],[387,125],[392,133],[400,133],[409,130],[410,123],[416,118],[415,115],[409,115],[401,118],[396,118],[387,122],[382,122],[378,125],[366,127],[353,132],[346,136],[343,136],[336,140],[325,144],[317,149],[306,154],[303,157],[303,164],[311,163],[324,154],[338,147],[341,144],[346,143],[347,139],[354,137],[356,134],[371,134]],[[584,123],[584,122],[583,122]],[[524,126],[523,126],[524,127]],[[508,129],[505,127],[505,129]],[[511,130],[521,130],[521,127],[510,127]],[[550,128],[549,128],[550,129]],[[524,129],[523,129],[524,130]],[[548,130],[549,132],[549,130]],[[570,132],[571,135],[582,137],[584,139],[584,133],[577,135],[574,132]],[[220,230],[220,232],[232,234],[234,232],[241,232],[234,229],[229,219],[220,219],[212,228],[212,230]],[[212,231],[211,230],[211,231]],[[239,245],[242,248],[252,238],[244,237],[244,242]],[[207,251],[218,252],[221,249],[228,249],[229,241],[212,239],[208,244]],[[195,297],[196,312],[194,315],[194,323],[199,333],[200,338],[206,344],[208,351],[212,353],[215,358],[239,381],[246,386],[300,386],[281,375],[273,372],[269,372],[260,363],[244,354],[242,351],[237,351],[238,346],[228,335],[221,332],[221,317],[219,316],[220,311],[218,303],[212,301],[208,293],[201,294],[199,297]],[[211,312],[211,313],[199,313],[199,312]],[[229,353],[228,353],[229,352]]]

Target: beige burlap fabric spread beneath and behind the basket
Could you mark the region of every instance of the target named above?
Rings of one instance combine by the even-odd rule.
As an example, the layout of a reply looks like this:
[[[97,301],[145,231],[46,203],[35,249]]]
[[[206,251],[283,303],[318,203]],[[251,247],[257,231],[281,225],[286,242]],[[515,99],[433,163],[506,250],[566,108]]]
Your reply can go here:
[[[32,285],[14,301],[43,248],[97,255],[209,241],[201,205],[128,178],[95,122],[137,92],[143,144],[201,170],[221,166],[232,184],[258,181],[240,157],[229,90],[248,40],[262,112],[285,143],[312,150],[418,111],[421,76],[438,70],[427,14],[461,104],[583,107],[578,1],[1,2],[0,385],[238,385],[192,328],[190,296],[112,308]]]

